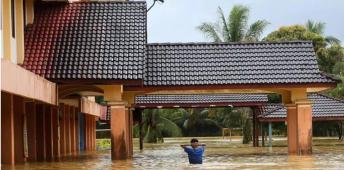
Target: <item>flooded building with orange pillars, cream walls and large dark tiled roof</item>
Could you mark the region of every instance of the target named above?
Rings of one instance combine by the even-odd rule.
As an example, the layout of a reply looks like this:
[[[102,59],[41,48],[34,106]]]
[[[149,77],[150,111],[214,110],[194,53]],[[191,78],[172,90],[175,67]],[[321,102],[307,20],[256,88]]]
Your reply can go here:
[[[145,2],[2,5],[1,161],[6,164],[94,150],[95,120],[104,108],[93,96],[104,96],[110,108],[112,159],[131,158],[130,108],[135,96],[152,93],[281,94],[288,152],[309,154],[307,92],[337,83],[320,73],[308,41],[147,44]]]

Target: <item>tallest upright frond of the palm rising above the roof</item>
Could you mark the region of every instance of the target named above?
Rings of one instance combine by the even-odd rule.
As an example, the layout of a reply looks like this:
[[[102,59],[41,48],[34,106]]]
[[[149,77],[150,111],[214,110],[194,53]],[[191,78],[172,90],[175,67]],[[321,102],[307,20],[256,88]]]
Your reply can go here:
[[[247,27],[249,9],[246,6],[235,5],[229,15],[229,33],[232,42],[241,41]]]

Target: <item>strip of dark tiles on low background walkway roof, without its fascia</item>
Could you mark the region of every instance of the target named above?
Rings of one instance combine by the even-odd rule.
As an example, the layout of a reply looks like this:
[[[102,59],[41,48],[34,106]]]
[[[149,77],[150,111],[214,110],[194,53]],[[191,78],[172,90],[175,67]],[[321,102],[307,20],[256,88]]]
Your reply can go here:
[[[266,94],[183,94],[139,95],[135,104],[187,104],[187,103],[249,103],[268,102]]]

